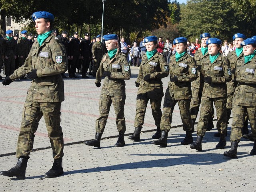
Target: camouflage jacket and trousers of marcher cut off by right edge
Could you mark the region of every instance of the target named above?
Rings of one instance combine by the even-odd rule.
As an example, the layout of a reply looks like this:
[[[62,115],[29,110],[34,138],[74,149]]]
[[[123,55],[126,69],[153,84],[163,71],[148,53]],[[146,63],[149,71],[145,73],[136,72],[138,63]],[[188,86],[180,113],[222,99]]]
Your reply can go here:
[[[236,81],[233,98],[233,122],[230,140],[240,140],[244,126],[244,115],[247,112],[251,124],[252,137],[256,139],[256,56],[244,64],[244,57],[236,62]]]

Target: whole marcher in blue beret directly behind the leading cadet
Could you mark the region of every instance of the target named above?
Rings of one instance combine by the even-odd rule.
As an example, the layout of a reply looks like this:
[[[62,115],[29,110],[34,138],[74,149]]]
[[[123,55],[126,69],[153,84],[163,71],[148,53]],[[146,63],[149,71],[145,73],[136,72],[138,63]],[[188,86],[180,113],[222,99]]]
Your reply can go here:
[[[126,56],[119,52],[117,35],[104,35],[103,38],[105,39],[108,52],[104,54],[100,62],[95,80],[95,85],[100,87],[101,78],[105,76],[99,101],[100,116],[95,123],[95,138],[86,141],[85,144],[100,147],[100,139],[107,123],[110,106],[113,103],[116,114],[116,127],[119,132],[118,140],[114,146],[122,147],[125,145],[124,133],[126,131],[124,118],[124,104],[126,98],[124,80],[130,79],[131,70]]]

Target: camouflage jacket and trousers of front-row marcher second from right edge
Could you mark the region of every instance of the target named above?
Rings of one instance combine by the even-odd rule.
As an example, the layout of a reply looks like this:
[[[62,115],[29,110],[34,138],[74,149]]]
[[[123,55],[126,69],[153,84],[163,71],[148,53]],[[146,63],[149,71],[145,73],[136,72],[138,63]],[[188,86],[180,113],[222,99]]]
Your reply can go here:
[[[201,73],[204,77],[212,77],[211,84],[204,83],[201,101],[200,118],[197,124],[197,135],[204,136],[206,125],[210,116],[210,109],[214,105],[217,112],[216,127],[220,134],[226,131],[226,102],[227,85],[231,78],[231,69],[229,60],[221,54],[211,63],[210,56],[202,59]]]

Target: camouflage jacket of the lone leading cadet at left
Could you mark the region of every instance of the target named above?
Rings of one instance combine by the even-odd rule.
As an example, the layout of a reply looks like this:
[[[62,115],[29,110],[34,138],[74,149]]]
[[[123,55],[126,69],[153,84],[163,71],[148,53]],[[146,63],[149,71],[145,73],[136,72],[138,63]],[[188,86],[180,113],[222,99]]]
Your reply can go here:
[[[16,69],[11,80],[36,69],[38,78],[32,80],[27,99],[34,102],[64,101],[64,82],[61,73],[67,70],[68,58],[65,47],[55,36],[49,36],[41,46],[36,40],[20,68]]]

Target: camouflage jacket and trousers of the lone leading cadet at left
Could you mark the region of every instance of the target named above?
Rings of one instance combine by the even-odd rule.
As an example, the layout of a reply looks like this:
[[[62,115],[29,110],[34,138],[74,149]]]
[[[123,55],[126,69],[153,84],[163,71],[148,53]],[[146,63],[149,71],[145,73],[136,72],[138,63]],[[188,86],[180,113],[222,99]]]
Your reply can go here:
[[[34,133],[42,116],[55,159],[63,156],[63,134],[60,126],[60,106],[64,101],[64,82],[61,73],[67,70],[67,57],[64,45],[53,35],[41,46],[34,42],[23,66],[10,75],[15,80],[36,69],[38,78],[32,80],[24,103],[20,135],[16,156],[29,158],[33,148]]]

